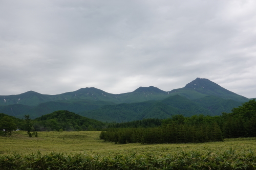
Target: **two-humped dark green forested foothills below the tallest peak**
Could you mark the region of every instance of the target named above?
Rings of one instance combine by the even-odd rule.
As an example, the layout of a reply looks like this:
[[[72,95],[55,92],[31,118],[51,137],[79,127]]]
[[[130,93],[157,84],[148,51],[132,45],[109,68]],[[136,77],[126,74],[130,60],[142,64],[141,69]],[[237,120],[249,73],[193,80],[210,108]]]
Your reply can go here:
[[[221,115],[238,107],[241,102],[225,100],[217,96],[205,96],[198,100],[189,100],[184,96],[174,95],[160,101],[147,101],[132,104],[103,106],[96,110],[84,111],[79,114],[89,118],[108,122],[130,122],[144,118],[168,118],[175,114]]]

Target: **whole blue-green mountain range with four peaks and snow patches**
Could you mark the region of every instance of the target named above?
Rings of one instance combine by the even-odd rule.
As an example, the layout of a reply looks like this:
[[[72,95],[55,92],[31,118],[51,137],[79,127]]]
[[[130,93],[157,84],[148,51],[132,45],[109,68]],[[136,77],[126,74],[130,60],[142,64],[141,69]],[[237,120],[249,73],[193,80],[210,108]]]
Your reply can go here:
[[[69,110],[103,122],[127,122],[143,118],[167,118],[174,114],[220,115],[250,99],[233,93],[208,79],[188,83],[183,88],[163,91],[139,87],[133,92],[111,94],[100,89],[81,88],[56,95],[28,91],[0,95],[0,113],[32,118],[57,110]]]

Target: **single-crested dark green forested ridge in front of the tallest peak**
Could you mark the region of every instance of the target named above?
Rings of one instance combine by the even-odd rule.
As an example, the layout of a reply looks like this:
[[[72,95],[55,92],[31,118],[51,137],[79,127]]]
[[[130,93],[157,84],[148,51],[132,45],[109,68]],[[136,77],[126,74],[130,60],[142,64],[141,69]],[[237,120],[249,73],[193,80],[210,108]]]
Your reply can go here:
[[[194,101],[180,95],[174,95],[161,101],[103,106],[99,109],[79,114],[101,121],[129,122],[143,118],[167,118],[175,114],[183,114],[185,116],[195,114],[211,115],[211,112]]]

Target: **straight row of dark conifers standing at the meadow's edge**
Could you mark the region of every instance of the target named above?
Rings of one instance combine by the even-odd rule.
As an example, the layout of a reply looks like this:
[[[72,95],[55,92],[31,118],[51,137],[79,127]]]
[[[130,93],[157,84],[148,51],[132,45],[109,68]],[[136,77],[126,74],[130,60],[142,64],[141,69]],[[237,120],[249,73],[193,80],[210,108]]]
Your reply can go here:
[[[190,143],[223,141],[219,125],[163,124],[154,128],[109,128],[100,139],[115,143]]]

